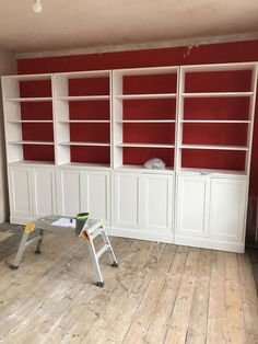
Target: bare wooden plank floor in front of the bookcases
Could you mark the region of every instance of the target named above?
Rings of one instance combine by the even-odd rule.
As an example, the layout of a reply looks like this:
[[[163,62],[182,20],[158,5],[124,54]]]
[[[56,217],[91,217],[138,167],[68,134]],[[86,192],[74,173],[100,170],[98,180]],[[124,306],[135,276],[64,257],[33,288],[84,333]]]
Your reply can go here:
[[[0,237],[1,240],[1,237]],[[258,343],[247,255],[113,238],[95,287],[85,243],[47,234],[19,271],[1,263],[2,343]]]

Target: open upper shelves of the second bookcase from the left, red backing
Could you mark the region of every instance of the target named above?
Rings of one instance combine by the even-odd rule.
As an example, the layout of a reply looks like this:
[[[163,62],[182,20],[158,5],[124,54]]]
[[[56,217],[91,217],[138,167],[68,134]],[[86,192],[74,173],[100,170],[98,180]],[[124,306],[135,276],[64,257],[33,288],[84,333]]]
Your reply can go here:
[[[55,74],[57,164],[110,167],[110,76],[108,70]]]

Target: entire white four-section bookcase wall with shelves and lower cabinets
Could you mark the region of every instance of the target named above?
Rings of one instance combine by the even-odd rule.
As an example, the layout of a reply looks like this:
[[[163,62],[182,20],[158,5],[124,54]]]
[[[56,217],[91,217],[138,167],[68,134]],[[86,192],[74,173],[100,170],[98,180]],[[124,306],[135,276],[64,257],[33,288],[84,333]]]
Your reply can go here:
[[[244,252],[257,68],[2,77],[11,221],[89,210],[115,236]]]

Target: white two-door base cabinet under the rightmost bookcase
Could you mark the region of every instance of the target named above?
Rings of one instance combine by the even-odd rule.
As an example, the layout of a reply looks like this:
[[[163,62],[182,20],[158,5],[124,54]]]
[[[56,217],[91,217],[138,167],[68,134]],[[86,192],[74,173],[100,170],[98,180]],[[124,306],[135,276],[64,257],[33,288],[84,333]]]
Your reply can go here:
[[[177,176],[175,243],[244,252],[247,179]]]

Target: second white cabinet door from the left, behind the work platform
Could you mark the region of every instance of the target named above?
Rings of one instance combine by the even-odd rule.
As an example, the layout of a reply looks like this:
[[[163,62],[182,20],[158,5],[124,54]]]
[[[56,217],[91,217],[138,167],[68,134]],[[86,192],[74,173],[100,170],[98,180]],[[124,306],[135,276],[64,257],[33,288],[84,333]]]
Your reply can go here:
[[[54,169],[32,171],[33,207],[35,217],[56,214],[56,185]]]

